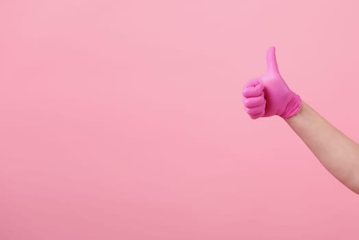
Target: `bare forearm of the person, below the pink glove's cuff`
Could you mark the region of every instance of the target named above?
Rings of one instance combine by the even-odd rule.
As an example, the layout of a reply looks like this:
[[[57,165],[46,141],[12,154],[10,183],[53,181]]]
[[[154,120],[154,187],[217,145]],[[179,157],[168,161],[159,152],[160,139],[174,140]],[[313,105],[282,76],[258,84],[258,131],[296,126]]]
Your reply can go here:
[[[322,165],[351,191],[359,194],[359,145],[326,121],[305,101],[286,123]]]

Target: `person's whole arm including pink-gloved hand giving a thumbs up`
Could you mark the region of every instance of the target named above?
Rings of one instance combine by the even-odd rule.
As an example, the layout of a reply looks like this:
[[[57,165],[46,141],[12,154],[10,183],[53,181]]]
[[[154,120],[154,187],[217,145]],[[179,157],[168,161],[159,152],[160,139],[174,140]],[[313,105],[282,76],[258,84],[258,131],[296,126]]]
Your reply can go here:
[[[277,67],[275,48],[267,51],[267,73],[243,87],[243,104],[252,119],[282,117],[322,165],[359,194],[359,145],[334,128],[290,90]]]

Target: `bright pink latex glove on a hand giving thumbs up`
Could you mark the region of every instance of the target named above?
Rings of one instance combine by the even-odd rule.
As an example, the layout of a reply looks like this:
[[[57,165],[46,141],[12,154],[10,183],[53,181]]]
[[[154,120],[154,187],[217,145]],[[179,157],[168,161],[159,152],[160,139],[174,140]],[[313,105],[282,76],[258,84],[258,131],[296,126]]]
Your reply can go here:
[[[243,104],[252,119],[273,115],[287,119],[300,110],[301,98],[290,90],[278,70],[275,47],[267,51],[267,73],[243,87]]]

